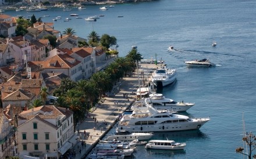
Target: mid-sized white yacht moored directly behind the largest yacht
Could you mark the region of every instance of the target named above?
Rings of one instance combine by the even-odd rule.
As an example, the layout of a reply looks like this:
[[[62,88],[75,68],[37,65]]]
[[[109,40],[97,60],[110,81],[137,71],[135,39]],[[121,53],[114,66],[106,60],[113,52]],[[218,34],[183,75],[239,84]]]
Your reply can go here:
[[[145,99],[145,103],[152,104],[156,109],[169,109],[174,111],[187,111],[195,103],[176,102],[172,99],[168,99],[160,93],[153,93],[150,97]]]

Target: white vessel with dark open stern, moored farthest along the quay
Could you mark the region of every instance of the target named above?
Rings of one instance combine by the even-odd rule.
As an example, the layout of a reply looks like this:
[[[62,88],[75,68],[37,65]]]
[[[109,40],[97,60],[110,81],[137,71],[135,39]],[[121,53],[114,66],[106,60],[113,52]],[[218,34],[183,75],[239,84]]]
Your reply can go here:
[[[158,68],[152,74],[152,82],[157,87],[163,87],[175,82],[177,73],[175,69],[166,68],[166,65]]]

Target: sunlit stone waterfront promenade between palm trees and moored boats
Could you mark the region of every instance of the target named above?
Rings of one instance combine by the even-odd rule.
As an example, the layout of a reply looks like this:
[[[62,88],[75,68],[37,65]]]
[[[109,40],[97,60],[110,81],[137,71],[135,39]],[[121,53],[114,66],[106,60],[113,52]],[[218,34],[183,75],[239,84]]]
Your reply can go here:
[[[155,64],[139,65],[138,74],[140,80],[142,79],[141,77],[144,77],[145,83],[148,82],[150,71],[155,70],[157,67],[159,67],[159,64],[158,66]],[[141,73],[142,71],[144,71],[144,74]],[[76,151],[76,157],[73,158],[85,158],[98,143],[98,140],[101,140],[105,133],[112,128],[119,115],[133,103],[138,89],[138,74],[136,71],[130,77],[120,80],[119,84],[114,86],[112,95],[104,97],[104,102],[90,113],[90,117],[86,118],[76,127],[76,131],[77,129],[79,130],[80,140],[73,147],[73,150]],[[84,131],[86,131],[86,135],[84,135]],[[82,142],[86,142],[86,146],[82,146]]]

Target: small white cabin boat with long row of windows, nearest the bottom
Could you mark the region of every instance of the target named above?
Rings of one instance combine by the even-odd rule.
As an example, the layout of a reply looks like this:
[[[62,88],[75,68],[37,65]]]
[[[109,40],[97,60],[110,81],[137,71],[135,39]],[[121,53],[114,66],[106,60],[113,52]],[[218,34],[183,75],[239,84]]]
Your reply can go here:
[[[161,150],[183,150],[186,143],[177,143],[174,140],[149,140],[146,144],[146,149],[161,149]]]

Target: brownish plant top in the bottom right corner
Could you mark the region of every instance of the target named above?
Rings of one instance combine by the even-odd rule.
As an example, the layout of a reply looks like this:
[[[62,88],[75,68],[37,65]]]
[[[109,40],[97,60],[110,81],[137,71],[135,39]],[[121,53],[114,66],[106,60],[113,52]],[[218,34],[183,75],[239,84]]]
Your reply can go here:
[[[251,159],[252,153],[256,149],[256,137],[252,132],[250,132],[246,133],[246,136],[244,136],[242,140],[248,145],[249,151],[247,153],[244,151],[243,147],[239,147],[236,149],[236,153],[243,154]],[[253,158],[256,158],[256,154],[254,154]]]

